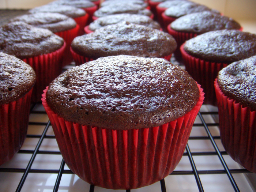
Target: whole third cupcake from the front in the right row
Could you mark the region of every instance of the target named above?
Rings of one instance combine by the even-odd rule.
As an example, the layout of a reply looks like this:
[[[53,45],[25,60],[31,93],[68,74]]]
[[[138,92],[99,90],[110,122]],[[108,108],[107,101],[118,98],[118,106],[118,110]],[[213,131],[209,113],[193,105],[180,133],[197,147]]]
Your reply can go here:
[[[174,52],[176,60],[181,60],[180,46],[188,39],[209,31],[223,29],[242,30],[242,27],[232,18],[210,11],[192,13],[177,18],[167,26],[168,33],[177,42],[177,49]]]

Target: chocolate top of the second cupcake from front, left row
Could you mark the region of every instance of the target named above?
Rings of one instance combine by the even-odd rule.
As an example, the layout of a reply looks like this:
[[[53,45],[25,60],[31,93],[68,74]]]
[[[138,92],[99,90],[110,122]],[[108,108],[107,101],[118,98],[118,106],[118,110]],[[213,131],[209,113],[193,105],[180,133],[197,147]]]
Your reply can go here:
[[[60,49],[63,38],[48,29],[12,22],[0,26],[0,51],[19,59],[47,54]]]

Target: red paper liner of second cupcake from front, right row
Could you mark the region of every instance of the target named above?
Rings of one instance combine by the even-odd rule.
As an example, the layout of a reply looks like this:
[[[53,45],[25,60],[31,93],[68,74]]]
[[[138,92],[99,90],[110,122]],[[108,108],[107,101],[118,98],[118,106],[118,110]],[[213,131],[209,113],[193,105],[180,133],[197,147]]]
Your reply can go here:
[[[214,90],[214,80],[218,76],[218,72],[228,64],[209,62],[193,57],[185,52],[184,44],[181,45],[180,51],[184,65],[186,67],[186,71],[204,89],[204,104],[217,106],[217,99]]]

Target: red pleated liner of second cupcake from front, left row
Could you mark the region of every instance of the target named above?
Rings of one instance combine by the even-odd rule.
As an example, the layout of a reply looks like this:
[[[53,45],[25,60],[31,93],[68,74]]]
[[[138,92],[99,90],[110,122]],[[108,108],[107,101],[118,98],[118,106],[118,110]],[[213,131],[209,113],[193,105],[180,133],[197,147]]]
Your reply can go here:
[[[66,43],[64,41],[64,45],[52,53],[22,59],[34,69],[37,76],[31,96],[32,102],[40,102],[45,87],[61,74],[65,47]]]

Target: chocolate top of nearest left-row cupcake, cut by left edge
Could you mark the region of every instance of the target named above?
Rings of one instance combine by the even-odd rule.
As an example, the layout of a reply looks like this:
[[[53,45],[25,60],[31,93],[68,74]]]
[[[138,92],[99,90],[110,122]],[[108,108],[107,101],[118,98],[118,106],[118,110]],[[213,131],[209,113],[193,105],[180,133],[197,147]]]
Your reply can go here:
[[[0,52],[0,105],[23,97],[35,84],[35,72],[22,60]]]

